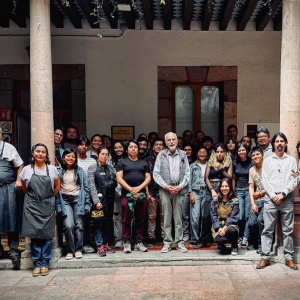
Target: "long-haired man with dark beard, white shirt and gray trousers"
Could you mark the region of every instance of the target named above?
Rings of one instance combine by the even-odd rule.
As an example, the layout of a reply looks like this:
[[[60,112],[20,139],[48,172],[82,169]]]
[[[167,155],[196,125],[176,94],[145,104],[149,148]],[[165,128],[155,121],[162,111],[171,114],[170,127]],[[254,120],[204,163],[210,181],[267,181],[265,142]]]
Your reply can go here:
[[[271,143],[275,153],[265,160],[262,167],[262,184],[266,191],[265,228],[261,235],[262,260],[256,268],[263,269],[270,265],[274,227],[279,213],[285,264],[293,270],[298,270],[298,266],[293,261],[294,198],[292,195],[297,186],[297,178],[293,174],[293,171],[297,171],[297,163],[294,157],[285,153],[288,141],[282,132],[276,133]]]

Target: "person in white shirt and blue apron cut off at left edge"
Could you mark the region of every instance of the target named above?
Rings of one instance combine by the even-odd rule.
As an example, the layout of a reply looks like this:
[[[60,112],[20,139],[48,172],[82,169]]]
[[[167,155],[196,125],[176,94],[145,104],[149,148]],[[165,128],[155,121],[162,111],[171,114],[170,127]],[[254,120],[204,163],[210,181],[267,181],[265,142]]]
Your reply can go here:
[[[23,160],[14,146],[2,141],[0,127],[0,258],[4,255],[1,234],[7,233],[10,249],[8,255],[14,264],[14,268],[18,269],[20,263],[18,247],[21,217],[17,189],[21,189],[22,184],[19,178],[15,181],[15,168],[18,177],[23,169]]]

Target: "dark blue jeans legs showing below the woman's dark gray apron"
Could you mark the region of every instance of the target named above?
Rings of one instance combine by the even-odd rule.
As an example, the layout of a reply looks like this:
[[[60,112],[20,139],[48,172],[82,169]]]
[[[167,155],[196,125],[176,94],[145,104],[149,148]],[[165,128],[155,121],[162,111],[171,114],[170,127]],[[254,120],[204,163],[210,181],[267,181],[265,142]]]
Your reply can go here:
[[[51,240],[32,238],[31,257],[35,268],[48,268],[51,259]]]

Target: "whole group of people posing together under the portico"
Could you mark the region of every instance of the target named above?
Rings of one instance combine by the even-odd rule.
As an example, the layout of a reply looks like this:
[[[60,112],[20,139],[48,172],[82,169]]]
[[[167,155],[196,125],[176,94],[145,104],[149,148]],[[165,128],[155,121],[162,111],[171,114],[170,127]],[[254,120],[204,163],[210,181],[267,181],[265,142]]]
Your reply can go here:
[[[182,138],[151,132],[113,142],[100,134],[89,140],[75,126],[66,132],[57,126],[55,165],[50,165],[47,146],[39,143],[32,147],[26,167],[16,149],[1,141],[0,209],[8,208],[9,214],[1,216],[0,234],[8,233],[12,261],[20,259],[22,228],[21,234],[31,238],[33,276],[47,275],[56,221],[67,260],[80,259],[83,252],[99,257],[114,253],[108,244],[112,227],[115,248],[127,254],[133,245],[147,252],[157,242],[159,211],[162,253],[172,250],[173,240],[182,253],[188,251],[187,241],[195,249],[215,242],[218,252],[232,255],[240,245],[256,249],[262,255],[257,268],[264,268],[270,264],[280,212],[286,264],[297,269],[292,191],[298,167],[286,154],[286,136],[279,132],[271,140],[268,129],[261,127],[251,148],[250,137],[237,140],[235,125],[227,132],[225,144],[214,144],[202,131],[193,139],[190,130]],[[25,194],[22,226],[16,189]]]

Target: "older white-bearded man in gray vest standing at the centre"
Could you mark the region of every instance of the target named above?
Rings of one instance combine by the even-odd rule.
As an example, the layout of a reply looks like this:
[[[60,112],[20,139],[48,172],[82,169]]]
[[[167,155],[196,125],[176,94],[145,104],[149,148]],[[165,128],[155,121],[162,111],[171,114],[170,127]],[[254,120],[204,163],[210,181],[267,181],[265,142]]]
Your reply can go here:
[[[183,242],[182,201],[189,192],[190,168],[185,151],[177,149],[177,136],[173,132],[165,135],[168,149],[158,153],[153,178],[160,186],[159,195],[164,213],[165,238],[162,253],[172,249],[172,215],[175,224],[177,250],[185,253]]]

